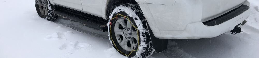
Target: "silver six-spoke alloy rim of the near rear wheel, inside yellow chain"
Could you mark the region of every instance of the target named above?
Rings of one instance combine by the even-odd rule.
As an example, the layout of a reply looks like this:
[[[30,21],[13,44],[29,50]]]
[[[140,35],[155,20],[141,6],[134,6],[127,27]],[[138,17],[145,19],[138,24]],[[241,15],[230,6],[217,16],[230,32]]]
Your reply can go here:
[[[119,45],[126,51],[137,47],[137,32],[127,18],[119,18],[115,23],[114,33]]]

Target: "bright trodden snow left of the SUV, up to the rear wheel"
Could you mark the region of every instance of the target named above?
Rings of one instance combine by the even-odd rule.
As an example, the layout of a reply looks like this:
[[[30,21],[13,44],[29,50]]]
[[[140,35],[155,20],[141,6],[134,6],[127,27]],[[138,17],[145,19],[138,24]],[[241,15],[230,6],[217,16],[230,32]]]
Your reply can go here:
[[[34,0],[0,0],[0,7],[0,58],[125,58],[107,38],[39,18]]]

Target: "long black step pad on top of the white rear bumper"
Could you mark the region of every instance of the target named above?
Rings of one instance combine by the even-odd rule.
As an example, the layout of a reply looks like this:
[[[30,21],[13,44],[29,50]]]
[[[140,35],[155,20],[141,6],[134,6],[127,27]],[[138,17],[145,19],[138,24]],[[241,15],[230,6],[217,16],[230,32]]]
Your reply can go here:
[[[248,10],[250,7],[247,6],[247,5],[241,5],[239,6],[238,8],[236,9],[233,9],[229,12],[227,12],[226,14],[223,14],[217,18],[214,18],[212,20],[209,20],[209,21],[206,21],[206,22],[203,22],[204,25],[207,25],[207,26],[215,26],[215,25],[219,25],[219,24],[222,24],[223,22],[226,22],[242,13],[244,13],[246,10]]]

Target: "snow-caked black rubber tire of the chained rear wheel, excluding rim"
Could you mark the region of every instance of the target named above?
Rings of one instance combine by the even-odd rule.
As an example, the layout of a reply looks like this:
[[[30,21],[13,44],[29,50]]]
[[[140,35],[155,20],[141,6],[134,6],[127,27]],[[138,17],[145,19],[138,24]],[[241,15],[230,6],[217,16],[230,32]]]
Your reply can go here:
[[[108,26],[108,36],[110,38],[110,42],[112,43],[113,47],[118,48],[118,42],[116,40],[114,36],[114,32],[110,32],[110,30],[113,30],[113,28],[110,28],[110,22],[111,22],[111,19],[116,17],[117,14],[123,14],[124,16],[128,16],[130,19],[131,22],[133,22],[134,26],[138,28],[139,32],[138,32],[138,35],[139,35],[139,38],[138,38],[138,42],[139,42],[139,45],[137,46],[138,49],[136,51],[133,51],[132,54],[130,54],[128,57],[140,57],[140,58],[146,58],[146,57],[149,57],[150,55],[153,54],[154,50],[153,50],[153,47],[152,47],[152,43],[151,43],[151,38],[150,38],[150,35],[149,35],[149,31],[148,31],[148,27],[147,27],[147,23],[146,23],[146,19],[140,9],[140,7],[136,4],[123,4],[123,5],[120,5],[118,7],[116,7],[112,13],[110,14],[109,16],[109,22],[107,24]],[[119,15],[118,15],[119,16]],[[120,18],[120,17],[118,17]],[[114,22],[114,21],[112,21]],[[112,24],[114,25],[114,24]],[[110,36],[110,35],[113,35],[113,36]],[[112,39],[111,39],[112,38]],[[113,41],[112,41],[113,40]],[[113,44],[113,42],[117,42],[115,44]],[[116,46],[115,46],[116,45]],[[122,50],[123,48],[119,47],[120,49],[117,49],[118,50]],[[135,49],[134,49],[135,50]],[[120,52],[118,51],[120,54],[124,55],[124,56],[127,56],[129,53],[128,51],[126,52]],[[124,49],[122,51],[125,51]],[[125,55],[126,54],[126,55]]]

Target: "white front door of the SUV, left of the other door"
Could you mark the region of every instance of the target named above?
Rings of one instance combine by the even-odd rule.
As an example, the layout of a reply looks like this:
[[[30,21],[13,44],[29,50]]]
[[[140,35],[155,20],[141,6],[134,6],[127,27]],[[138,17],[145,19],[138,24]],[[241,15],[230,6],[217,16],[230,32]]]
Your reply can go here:
[[[53,0],[56,5],[74,9],[77,11],[83,11],[81,0]]]

